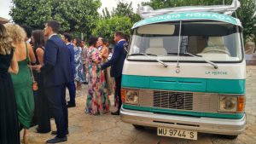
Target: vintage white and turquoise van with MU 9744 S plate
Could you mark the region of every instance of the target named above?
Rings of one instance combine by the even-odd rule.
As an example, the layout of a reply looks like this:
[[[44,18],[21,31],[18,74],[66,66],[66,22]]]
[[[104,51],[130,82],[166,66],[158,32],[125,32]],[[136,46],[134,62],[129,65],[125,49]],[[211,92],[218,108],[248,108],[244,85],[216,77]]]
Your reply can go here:
[[[198,133],[236,138],[245,130],[241,22],[225,6],[213,7],[150,9],[131,28],[122,121],[192,140]]]

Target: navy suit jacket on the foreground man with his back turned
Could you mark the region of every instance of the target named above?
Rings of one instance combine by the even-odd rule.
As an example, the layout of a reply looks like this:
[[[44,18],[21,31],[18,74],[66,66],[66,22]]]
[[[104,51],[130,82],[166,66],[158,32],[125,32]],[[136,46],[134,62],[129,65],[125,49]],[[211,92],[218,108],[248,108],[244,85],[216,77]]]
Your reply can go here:
[[[70,61],[66,43],[57,35],[50,37],[45,43],[44,66],[41,67],[44,87],[54,87],[73,81]]]

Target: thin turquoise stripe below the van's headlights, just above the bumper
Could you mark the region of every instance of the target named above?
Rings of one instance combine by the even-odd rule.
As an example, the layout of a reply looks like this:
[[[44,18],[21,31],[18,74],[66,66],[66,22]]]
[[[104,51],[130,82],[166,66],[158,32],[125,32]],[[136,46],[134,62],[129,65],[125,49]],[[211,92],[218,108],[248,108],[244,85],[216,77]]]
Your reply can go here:
[[[242,113],[214,113],[214,112],[191,112],[191,111],[178,111],[172,109],[163,109],[157,107],[138,107],[133,105],[123,104],[123,107],[126,109],[144,111],[144,112],[159,112],[159,113],[169,113],[177,115],[187,115],[192,117],[208,117],[208,118],[231,118],[231,119],[240,119],[244,116]]]

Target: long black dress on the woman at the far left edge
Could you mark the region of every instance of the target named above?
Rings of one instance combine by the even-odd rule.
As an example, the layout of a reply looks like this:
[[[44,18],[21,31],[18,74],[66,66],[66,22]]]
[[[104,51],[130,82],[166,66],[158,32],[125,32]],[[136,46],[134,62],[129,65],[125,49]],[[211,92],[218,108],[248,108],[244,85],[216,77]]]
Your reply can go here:
[[[8,72],[13,52],[0,55],[0,143],[20,144],[14,86]]]

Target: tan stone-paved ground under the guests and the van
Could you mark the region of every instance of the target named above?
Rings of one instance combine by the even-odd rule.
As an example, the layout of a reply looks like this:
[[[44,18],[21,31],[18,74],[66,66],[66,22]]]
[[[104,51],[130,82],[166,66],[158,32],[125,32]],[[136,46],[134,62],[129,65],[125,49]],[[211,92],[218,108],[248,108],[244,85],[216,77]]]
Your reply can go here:
[[[69,133],[65,144],[256,144],[256,66],[247,66],[247,128],[236,140],[219,135],[199,134],[197,141],[156,135],[156,130],[135,130],[110,113],[92,116],[84,113],[86,86],[79,91],[77,107],[69,109]],[[113,98],[112,98],[113,100]],[[52,121],[55,130],[55,123]],[[53,136],[29,130],[29,142],[41,144]]]

